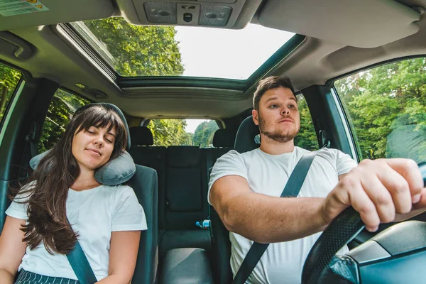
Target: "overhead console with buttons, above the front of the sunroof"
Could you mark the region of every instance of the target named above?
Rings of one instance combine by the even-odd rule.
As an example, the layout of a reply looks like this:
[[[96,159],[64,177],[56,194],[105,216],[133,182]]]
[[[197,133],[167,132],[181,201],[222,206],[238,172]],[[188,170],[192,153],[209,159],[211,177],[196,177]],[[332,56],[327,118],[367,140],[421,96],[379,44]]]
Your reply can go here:
[[[261,0],[116,0],[127,21],[136,25],[244,28]]]

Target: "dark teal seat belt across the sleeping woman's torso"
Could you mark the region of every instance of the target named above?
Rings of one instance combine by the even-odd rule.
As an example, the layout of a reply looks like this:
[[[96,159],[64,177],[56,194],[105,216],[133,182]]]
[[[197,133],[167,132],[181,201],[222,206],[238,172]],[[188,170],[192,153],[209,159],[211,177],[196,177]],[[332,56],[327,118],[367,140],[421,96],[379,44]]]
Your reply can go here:
[[[67,253],[67,258],[81,284],[97,283],[96,276],[78,240],[75,242],[74,249]]]

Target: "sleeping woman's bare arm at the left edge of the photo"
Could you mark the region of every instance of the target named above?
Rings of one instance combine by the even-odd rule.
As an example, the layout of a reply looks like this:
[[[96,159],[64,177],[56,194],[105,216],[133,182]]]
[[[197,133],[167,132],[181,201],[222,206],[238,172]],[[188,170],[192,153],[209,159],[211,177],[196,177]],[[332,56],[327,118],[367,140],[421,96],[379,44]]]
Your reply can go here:
[[[21,225],[25,220],[6,217],[0,236],[0,283],[13,284],[16,272],[26,251]]]

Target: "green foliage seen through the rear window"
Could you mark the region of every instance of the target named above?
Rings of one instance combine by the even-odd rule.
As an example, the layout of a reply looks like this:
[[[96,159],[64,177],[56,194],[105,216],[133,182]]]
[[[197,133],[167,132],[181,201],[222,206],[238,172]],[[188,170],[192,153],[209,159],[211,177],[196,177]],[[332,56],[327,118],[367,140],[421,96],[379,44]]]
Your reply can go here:
[[[191,133],[185,132],[184,119],[153,119],[148,124],[154,138],[154,146],[192,145]]]

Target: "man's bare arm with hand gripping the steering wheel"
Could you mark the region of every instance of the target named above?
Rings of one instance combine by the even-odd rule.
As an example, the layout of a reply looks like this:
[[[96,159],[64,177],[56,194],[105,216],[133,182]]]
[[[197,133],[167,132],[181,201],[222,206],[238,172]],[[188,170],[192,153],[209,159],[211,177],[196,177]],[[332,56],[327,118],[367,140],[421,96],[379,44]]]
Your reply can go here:
[[[229,175],[214,182],[210,202],[229,231],[268,243],[322,231],[349,206],[360,213],[368,230],[376,231],[381,222],[410,214],[413,204],[425,208],[426,190],[413,160],[378,159],[363,160],[342,175],[325,199],[261,195],[250,190],[246,179]]]

